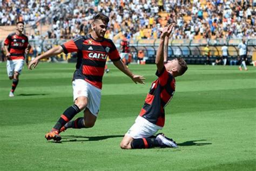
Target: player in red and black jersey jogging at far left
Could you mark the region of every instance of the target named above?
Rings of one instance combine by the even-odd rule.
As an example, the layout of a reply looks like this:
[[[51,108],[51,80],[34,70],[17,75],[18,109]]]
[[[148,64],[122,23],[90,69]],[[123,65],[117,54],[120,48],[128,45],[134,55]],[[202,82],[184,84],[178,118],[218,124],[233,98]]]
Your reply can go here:
[[[30,50],[29,39],[23,35],[24,23],[18,22],[16,32],[11,33],[4,41],[4,50],[7,58],[7,74],[12,79],[9,97],[14,97],[14,91],[19,83],[19,75],[24,65],[25,53]]]

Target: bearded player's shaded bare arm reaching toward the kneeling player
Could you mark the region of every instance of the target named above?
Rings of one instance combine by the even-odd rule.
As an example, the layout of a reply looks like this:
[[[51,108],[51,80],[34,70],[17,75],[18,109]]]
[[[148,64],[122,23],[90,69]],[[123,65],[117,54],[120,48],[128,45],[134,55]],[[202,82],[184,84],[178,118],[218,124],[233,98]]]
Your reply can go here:
[[[121,61],[113,61],[114,66],[116,66],[120,71],[122,71],[123,73],[125,73],[128,77],[130,77],[134,83],[140,83],[140,84],[145,84],[144,80],[145,78],[143,76],[137,76],[134,75],[128,68],[127,66]]]

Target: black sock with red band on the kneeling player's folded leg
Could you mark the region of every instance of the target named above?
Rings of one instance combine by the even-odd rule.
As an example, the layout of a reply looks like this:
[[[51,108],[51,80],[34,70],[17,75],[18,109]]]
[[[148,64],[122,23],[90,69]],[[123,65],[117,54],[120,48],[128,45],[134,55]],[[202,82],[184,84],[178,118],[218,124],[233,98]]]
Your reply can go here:
[[[160,147],[156,138],[138,138],[131,142],[132,149]]]

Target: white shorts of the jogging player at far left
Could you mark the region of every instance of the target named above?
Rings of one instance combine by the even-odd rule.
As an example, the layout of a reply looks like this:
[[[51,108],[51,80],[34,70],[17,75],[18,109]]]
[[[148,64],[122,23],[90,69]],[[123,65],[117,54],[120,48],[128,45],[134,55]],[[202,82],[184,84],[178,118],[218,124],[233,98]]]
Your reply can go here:
[[[14,76],[14,71],[21,74],[23,65],[24,59],[7,60],[6,68],[8,77]]]

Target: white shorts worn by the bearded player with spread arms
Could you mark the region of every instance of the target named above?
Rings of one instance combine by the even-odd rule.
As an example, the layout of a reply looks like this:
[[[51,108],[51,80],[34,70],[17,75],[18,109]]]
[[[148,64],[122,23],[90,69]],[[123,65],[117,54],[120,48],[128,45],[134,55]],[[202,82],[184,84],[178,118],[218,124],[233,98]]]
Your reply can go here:
[[[73,99],[74,101],[78,97],[87,97],[87,108],[90,112],[98,117],[100,98],[102,97],[102,90],[91,85],[83,79],[75,79],[72,82],[73,85]]]

